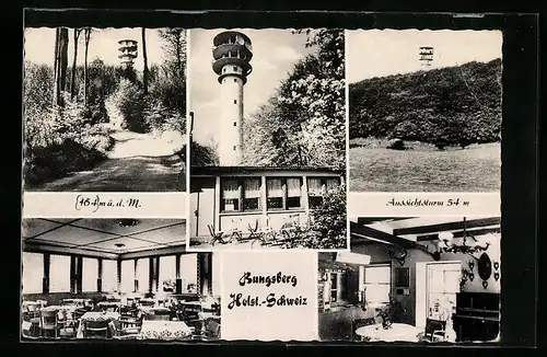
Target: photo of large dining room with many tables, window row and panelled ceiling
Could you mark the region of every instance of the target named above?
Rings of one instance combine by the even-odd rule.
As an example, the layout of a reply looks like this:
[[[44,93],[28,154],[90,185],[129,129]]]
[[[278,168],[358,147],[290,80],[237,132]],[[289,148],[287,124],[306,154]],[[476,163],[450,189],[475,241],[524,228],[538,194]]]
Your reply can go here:
[[[22,339],[217,341],[220,262],[184,219],[23,219]]]

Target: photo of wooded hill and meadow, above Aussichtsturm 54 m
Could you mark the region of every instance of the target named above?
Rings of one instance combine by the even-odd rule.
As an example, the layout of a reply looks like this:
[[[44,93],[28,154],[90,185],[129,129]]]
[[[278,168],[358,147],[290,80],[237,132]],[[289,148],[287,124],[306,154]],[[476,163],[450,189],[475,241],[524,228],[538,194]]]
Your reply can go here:
[[[351,192],[499,192],[501,31],[347,31]]]

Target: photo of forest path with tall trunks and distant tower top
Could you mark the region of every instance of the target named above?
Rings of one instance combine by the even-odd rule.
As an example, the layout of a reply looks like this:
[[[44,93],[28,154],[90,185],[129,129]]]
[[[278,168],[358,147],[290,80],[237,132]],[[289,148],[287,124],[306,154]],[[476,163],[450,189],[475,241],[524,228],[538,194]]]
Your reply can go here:
[[[186,31],[26,27],[27,192],[186,192]]]

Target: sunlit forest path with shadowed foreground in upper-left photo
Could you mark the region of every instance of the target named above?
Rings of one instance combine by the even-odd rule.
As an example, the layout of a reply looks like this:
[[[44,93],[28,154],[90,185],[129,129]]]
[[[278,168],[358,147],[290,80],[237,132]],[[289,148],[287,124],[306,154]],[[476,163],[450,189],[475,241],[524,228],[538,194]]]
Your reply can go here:
[[[186,189],[184,163],[175,153],[184,137],[161,137],[112,130],[116,140],[108,158],[90,171],[79,171],[45,183],[45,192],[179,192]]]

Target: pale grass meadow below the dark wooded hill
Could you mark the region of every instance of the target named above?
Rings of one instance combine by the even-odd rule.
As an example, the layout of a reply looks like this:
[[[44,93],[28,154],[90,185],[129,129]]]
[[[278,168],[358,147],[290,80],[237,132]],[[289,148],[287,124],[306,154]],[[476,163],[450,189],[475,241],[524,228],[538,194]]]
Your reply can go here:
[[[437,150],[405,142],[408,150],[386,149],[386,140],[350,142],[350,191],[496,192],[501,186],[501,145]]]

